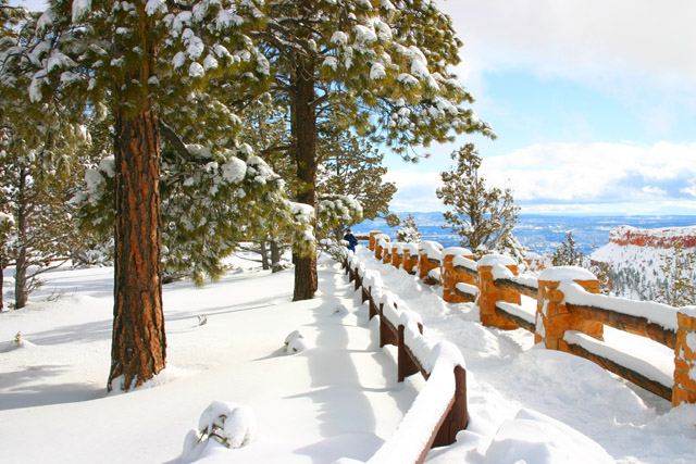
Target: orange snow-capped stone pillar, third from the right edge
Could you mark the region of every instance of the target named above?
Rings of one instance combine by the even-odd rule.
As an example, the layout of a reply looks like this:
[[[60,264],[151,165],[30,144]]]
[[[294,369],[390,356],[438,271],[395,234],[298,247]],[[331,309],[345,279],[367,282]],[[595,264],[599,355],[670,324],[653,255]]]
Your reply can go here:
[[[498,327],[504,330],[513,330],[519,328],[518,325],[497,315],[496,303],[498,301],[505,301],[507,303],[520,304],[522,297],[517,291],[501,290],[496,287],[495,274],[497,274],[501,267],[506,267],[513,275],[518,275],[518,265],[514,260],[509,256],[487,254],[478,260],[476,263],[476,272],[478,273],[476,277],[476,286],[478,287],[476,304],[478,304],[478,313],[483,325]]]

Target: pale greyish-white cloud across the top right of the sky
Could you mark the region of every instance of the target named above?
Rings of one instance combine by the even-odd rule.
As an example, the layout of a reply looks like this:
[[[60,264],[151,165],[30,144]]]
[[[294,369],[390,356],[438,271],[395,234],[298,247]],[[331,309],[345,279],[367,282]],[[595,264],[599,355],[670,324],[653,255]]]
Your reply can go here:
[[[443,1],[465,49],[487,62],[536,62],[547,72],[626,67],[696,80],[692,0]],[[563,71],[564,70],[564,71]]]

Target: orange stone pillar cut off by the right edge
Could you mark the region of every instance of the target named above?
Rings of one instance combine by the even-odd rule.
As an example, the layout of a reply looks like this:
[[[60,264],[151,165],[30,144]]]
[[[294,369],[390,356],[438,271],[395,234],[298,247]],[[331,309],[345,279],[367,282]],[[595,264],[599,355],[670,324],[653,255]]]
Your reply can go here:
[[[679,330],[674,347],[674,387],[672,405],[696,403],[696,306],[676,313]]]

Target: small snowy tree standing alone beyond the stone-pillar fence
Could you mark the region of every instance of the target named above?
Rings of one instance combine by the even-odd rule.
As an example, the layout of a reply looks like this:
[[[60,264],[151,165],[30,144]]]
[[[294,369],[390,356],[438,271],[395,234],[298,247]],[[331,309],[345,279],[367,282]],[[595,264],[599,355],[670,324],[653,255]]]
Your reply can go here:
[[[437,189],[437,198],[452,208],[445,212],[449,225],[443,228],[459,235],[461,246],[476,258],[487,250],[515,250],[510,237],[520,209],[514,205],[512,191],[486,186],[478,174],[481,158],[472,143],[453,151],[451,158],[457,165],[440,173],[444,186]]]

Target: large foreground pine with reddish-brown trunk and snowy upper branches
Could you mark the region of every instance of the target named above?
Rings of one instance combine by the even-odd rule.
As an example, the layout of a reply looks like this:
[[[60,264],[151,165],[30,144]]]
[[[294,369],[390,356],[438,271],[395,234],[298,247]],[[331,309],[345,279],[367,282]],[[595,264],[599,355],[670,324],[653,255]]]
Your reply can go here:
[[[40,70],[30,86],[34,99],[60,88],[83,98],[88,112],[100,113],[105,106],[113,124],[115,286],[109,390],[141,385],[166,362],[160,166],[161,138],[169,133],[162,130],[163,117],[173,120],[175,110],[191,117],[187,110],[208,101],[202,90],[210,89],[210,79],[217,79],[221,87],[262,80],[258,76],[268,74],[268,62],[259,59],[245,34],[256,27],[251,20],[259,16],[253,0],[51,0],[38,22],[39,32],[51,41],[37,57]],[[199,115],[208,117],[189,134],[226,111],[215,101],[208,108],[209,114]],[[186,146],[173,139],[177,153],[188,158],[190,153],[182,150]],[[204,149],[212,155],[203,165],[217,163],[220,168],[215,156],[224,156],[221,153],[229,147]],[[195,162],[200,158],[204,155],[191,156]]]

